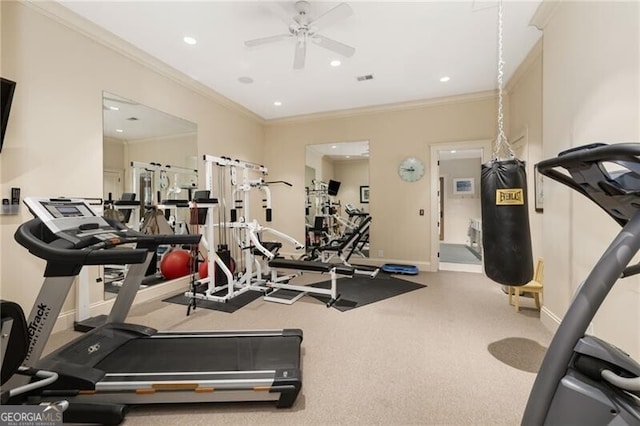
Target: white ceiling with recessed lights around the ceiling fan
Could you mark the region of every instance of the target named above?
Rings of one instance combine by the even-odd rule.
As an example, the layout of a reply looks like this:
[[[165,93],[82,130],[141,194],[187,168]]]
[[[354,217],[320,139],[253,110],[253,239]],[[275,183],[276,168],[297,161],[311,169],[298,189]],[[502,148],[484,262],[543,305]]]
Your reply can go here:
[[[505,82],[541,35],[529,26],[540,2],[504,0]],[[320,33],[353,46],[355,54],[344,58],[309,45],[300,70],[293,69],[292,38],[244,45],[287,33],[294,2],[60,3],[264,119],[497,88],[497,1],[348,2],[353,15]],[[311,19],[339,4],[310,3]],[[185,36],[198,43],[187,45]],[[342,65],[331,67],[333,59]],[[373,79],[357,81],[366,74]],[[441,83],[443,76],[451,80]]]

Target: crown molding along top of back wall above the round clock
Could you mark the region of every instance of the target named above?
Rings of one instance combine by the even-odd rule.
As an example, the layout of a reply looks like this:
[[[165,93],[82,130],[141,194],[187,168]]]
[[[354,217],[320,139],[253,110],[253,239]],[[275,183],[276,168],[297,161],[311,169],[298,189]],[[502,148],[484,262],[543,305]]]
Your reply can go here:
[[[265,120],[267,127],[284,126],[289,124],[308,123],[314,121],[335,120],[340,118],[353,118],[355,116],[373,115],[386,112],[406,111],[418,108],[435,107],[440,105],[462,104],[477,102],[496,97],[495,90],[469,93],[464,95],[445,96],[441,98],[421,99],[410,102],[399,102],[393,104],[376,105],[363,108],[344,109],[339,111],[329,111],[314,114],[298,115],[294,117],[276,118]]]

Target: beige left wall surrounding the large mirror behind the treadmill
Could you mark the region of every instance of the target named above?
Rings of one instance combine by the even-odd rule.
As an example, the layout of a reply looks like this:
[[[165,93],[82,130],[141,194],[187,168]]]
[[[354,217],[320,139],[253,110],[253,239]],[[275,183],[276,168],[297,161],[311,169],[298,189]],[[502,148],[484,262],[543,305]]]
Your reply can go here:
[[[262,161],[263,128],[252,114],[142,53],[125,55],[83,35],[78,29],[88,24],[55,3],[3,1],[0,7],[1,72],[18,83],[0,154],[2,194],[20,187],[23,197],[101,196],[103,90],[196,123],[200,154]],[[44,267],[13,239],[29,218],[24,208],[0,217],[2,297],[26,310]],[[65,310],[74,302],[72,295]]]

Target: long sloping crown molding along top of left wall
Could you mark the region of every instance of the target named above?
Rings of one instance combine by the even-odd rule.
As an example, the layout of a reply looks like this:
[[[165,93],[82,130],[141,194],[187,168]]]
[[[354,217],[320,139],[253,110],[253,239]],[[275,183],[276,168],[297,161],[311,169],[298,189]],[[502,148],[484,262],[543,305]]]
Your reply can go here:
[[[246,109],[242,105],[221,95],[220,93],[205,86],[204,84],[192,79],[183,72],[178,71],[175,68],[167,65],[166,63],[154,58],[153,56],[142,51],[133,44],[121,39],[120,37],[94,24],[88,19],[83,18],[70,9],[67,9],[60,3],[57,3],[55,1],[26,0],[22,2],[22,4],[79,34],[89,37],[90,39],[121,54],[122,56],[131,59],[132,61],[137,62],[162,76],[169,78],[170,80],[180,84],[186,89],[212,100],[222,107],[225,107],[234,112],[238,112],[252,120],[259,122],[260,124],[264,124],[264,119],[254,112]]]

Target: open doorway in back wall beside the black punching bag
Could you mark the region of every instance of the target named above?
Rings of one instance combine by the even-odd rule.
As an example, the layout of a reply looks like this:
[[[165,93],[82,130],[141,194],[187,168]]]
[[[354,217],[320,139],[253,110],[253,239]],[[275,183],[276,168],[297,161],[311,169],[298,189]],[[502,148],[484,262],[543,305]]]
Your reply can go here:
[[[489,141],[434,145],[437,221],[432,229],[435,270],[482,273],[480,169]]]

